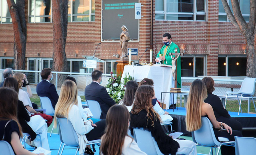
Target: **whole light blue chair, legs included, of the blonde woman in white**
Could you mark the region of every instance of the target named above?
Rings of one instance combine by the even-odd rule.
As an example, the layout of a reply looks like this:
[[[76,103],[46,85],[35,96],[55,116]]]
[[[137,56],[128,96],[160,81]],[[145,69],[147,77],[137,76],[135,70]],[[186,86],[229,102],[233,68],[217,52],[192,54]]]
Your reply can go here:
[[[65,146],[77,147],[77,149],[76,149],[76,154],[77,154],[78,149],[79,149],[79,142],[78,142],[77,133],[76,133],[72,123],[67,118],[58,118],[57,117],[56,119],[57,119],[57,123],[59,125],[60,141],[62,143],[64,143],[60,155],[62,155],[62,152],[63,152]],[[61,147],[62,143],[60,144],[60,147]],[[89,141],[89,143],[86,145],[94,145],[94,144],[100,145],[100,139],[94,140],[94,141]],[[59,149],[59,151],[60,151],[60,149]],[[58,154],[59,154],[59,152],[58,152]]]

